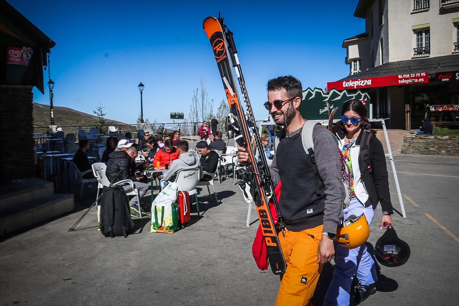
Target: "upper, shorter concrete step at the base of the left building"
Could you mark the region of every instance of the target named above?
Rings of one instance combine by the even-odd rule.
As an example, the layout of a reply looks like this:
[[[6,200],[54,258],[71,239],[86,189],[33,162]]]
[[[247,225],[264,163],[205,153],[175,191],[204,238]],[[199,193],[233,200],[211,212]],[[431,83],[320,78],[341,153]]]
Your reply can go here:
[[[41,178],[31,178],[2,187],[0,210],[54,194],[54,185]]]

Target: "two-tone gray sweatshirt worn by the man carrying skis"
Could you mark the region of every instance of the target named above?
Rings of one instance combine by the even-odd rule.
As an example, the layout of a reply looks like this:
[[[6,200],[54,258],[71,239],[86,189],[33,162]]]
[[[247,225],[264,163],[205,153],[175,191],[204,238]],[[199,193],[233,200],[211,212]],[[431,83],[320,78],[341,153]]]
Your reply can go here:
[[[324,232],[336,233],[345,198],[336,138],[317,125],[313,129],[313,142],[321,195],[315,192],[314,168],[304,151],[301,134],[291,133],[280,140],[270,173],[274,186],[282,182],[279,208],[289,230],[301,231],[324,224]]]

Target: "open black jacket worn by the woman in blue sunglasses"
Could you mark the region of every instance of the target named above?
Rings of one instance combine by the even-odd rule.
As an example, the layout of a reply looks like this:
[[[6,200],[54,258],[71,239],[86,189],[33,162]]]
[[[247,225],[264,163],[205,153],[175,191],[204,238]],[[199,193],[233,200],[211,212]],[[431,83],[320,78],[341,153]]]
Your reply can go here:
[[[333,134],[337,134],[340,139],[344,139],[346,134],[340,134],[338,128],[341,127],[341,121],[337,122],[333,127]],[[363,128],[362,128],[363,130]],[[362,139],[362,131],[355,140],[355,145],[360,145]],[[376,208],[378,202],[381,202],[382,211],[387,211],[387,214],[392,215],[392,203],[391,194],[389,192],[389,179],[387,173],[386,155],[382,147],[381,141],[375,136],[371,135],[369,144],[369,156],[371,162],[372,172],[365,170],[364,164],[361,158],[358,159],[358,167],[360,172],[364,174],[364,184],[367,190],[369,200],[373,208]],[[360,175],[361,175],[360,173]],[[359,175],[354,173],[354,175]],[[369,206],[369,203],[364,203],[365,206]]]

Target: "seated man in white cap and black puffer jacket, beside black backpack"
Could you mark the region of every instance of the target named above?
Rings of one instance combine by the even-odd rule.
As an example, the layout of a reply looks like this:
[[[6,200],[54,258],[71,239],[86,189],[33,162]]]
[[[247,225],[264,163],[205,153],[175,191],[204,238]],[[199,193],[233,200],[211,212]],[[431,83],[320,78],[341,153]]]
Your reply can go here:
[[[130,179],[134,182],[134,188],[139,190],[139,198],[142,199],[142,196],[145,195],[146,191],[148,190],[148,185],[144,183],[140,183],[141,178],[137,178],[135,173],[133,173],[134,169],[131,167],[132,161],[138,155],[137,149],[132,146],[133,143],[129,142],[127,139],[122,139],[121,141],[127,142],[127,144],[119,144],[118,148],[119,151],[114,151],[110,153],[110,159],[107,163],[107,169],[105,171],[108,180],[111,183],[119,182],[123,179]],[[118,173],[121,171],[120,175]],[[118,178],[117,178],[118,177]],[[117,178],[115,180],[115,178]],[[123,184],[123,189],[126,191],[131,191],[130,186],[128,184]],[[137,197],[134,196],[129,201],[130,212],[132,217],[139,217],[139,210],[137,206]],[[142,213],[144,213],[142,211]]]

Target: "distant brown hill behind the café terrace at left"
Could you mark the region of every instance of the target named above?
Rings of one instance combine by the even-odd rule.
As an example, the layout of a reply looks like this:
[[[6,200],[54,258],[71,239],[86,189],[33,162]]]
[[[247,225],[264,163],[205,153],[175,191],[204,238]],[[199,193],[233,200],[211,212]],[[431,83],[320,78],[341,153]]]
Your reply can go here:
[[[80,125],[93,125],[96,116],[90,115],[81,111],[75,111],[68,107],[54,106],[54,123],[58,127],[62,126],[80,126]],[[116,124],[128,124],[121,121],[105,119],[108,122],[115,122]],[[50,106],[34,103],[34,127],[47,127],[50,125]]]

